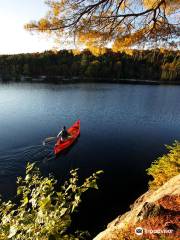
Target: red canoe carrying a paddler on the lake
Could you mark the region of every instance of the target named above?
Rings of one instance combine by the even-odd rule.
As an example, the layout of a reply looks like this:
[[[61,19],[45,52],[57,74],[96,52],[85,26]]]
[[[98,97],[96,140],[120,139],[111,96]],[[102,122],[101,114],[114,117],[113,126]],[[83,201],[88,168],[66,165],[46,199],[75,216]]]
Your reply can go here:
[[[78,138],[78,136],[80,134],[80,120],[75,122],[67,131],[71,135],[71,137],[63,142],[60,139],[57,140],[57,142],[54,146],[55,154],[58,154],[62,150],[71,146],[73,144],[73,142]]]

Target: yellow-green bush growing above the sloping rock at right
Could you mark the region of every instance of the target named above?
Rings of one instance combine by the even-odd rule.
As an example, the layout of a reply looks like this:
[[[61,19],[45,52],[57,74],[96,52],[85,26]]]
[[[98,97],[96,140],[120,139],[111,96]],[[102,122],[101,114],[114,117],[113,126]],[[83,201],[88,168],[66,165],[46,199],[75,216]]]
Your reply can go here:
[[[155,160],[147,169],[148,175],[153,177],[149,182],[150,189],[162,186],[180,172],[180,142],[175,141],[172,146],[166,146],[166,148],[169,152]]]

